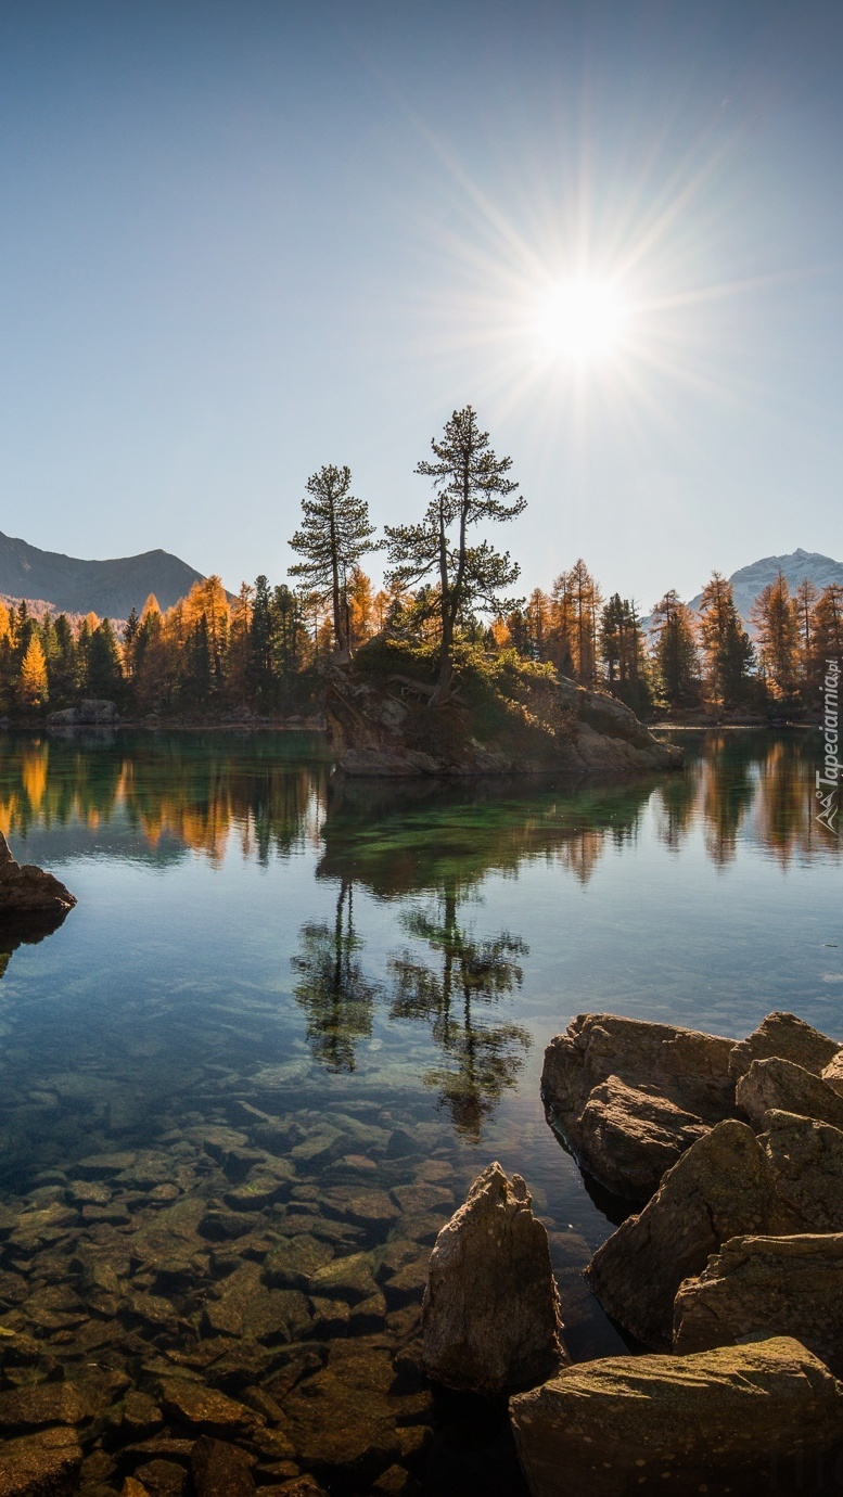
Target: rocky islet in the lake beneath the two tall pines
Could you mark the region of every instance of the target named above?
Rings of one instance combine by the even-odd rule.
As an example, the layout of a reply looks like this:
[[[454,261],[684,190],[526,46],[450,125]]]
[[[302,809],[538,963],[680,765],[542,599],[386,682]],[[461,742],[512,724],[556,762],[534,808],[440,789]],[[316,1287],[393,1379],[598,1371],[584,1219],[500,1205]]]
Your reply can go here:
[[[431,708],[425,681],[374,681],[359,663],[322,675],[328,735],[350,775],[641,774],[683,762],[681,748],[659,743],[623,702],[564,678],[542,680],[529,702],[508,701],[487,731],[464,702]]]

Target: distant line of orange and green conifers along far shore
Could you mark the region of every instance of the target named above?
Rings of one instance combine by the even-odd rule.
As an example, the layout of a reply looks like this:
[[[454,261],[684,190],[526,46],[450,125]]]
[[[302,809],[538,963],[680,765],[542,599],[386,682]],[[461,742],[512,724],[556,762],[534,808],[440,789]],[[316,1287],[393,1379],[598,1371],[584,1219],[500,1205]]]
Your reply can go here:
[[[343,654],[374,636],[434,651],[434,594],[430,585],[376,590],[359,564],[349,567]],[[779,575],[756,599],[752,623],[755,639],[731,584],[714,572],[698,615],[669,591],[645,630],[635,603],[617,593],[603,599],[578,560],[550,591],[536,588],[491,620],[466,614],[457,633],[467,651],[545,662],[644,714],[714,707],[798,717],[818,708],[825,660],[843,657],[843,587],[818,593],[806,579],[791,594]],[[234,603],[217,576],[166,611],[150,597],[120,635],[94,614],[39,618],[25,602],[0,603],[0,708],[52,711],[93,696],[136,717],[307,713],[319,701],[319,662],[335,653],[331,597],[270,587],[265,576],[243,584]]]

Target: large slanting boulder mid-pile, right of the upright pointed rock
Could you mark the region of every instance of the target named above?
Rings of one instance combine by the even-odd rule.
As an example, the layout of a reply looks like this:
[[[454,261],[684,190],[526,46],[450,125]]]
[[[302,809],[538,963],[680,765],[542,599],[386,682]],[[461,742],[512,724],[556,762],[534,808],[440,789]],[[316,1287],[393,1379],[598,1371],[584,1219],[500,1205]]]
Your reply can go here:
[[[615,1320],[656,1350],[672,1344],[674,1296],[731,1237],[794,1229],[746,1123],[717,1123],[665,1175],[653,1199],[597,1248],[585,1275]],[[798,1229],[798,1225],[797,1225]]]

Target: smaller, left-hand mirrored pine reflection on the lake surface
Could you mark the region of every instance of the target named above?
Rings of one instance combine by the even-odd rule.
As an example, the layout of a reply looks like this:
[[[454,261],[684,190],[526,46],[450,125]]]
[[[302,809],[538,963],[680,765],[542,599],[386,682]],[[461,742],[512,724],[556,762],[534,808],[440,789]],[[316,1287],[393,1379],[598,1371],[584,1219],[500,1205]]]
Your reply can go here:
[[[301,949],[290,958],[299,973],[293,993],[307,1015],[307,1042],[326,1070],[353,1070],[356,1045],[371,1037],[371,1010],[380,985],[370,982],[358,952],[362,942],[353,927],[353,883],[340,882],[334,922],[307,921]]]

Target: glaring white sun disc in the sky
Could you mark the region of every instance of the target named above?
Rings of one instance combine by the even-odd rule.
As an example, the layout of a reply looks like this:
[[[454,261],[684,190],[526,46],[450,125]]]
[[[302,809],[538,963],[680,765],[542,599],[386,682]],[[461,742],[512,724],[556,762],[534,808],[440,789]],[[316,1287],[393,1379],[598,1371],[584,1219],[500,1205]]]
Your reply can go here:
[[[536,331],[548,359],[593,364],[621,350],[627,322],[629,308],[612,281],[581,277],[545,295]]]

